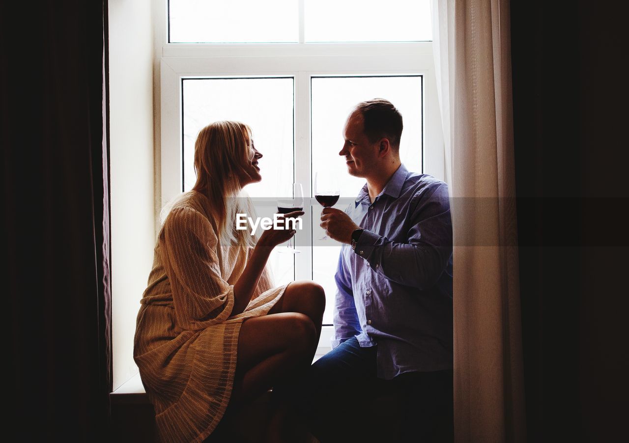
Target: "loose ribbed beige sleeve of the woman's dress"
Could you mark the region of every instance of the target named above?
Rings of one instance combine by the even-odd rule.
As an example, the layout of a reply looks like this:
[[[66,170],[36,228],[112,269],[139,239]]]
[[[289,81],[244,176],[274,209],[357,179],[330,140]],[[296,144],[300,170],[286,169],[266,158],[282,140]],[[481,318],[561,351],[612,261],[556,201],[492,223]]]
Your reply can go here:
[[[225,321],[233,308],[233,285],[221,276],[218,238],[208,219],[194,209],[174,209],[159,241],[177,324],[198,330]]]

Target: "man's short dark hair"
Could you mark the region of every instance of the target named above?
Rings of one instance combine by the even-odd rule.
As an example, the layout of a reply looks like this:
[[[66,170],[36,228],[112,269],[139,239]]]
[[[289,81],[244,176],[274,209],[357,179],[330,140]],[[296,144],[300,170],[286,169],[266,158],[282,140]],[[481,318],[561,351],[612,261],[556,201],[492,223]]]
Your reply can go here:
[[[360,112],[364,120],[364,132],[370,143],[376,143],[383,137],[389,139],[391,146],[399,149],[402,138],[402,114],[386,99],[372,99],[360,102],[353,112]],[[352,112],[352,113],[353,113]]]

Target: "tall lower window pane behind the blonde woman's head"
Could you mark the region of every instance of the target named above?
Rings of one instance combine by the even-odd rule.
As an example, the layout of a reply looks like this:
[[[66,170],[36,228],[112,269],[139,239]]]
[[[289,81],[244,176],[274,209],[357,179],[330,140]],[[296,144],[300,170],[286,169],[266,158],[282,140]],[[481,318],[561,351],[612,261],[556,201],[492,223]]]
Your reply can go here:
[[[274,207],[278,196],[286,195],[286,183],[293,180],[293,79],[184,79],[184,191],[196,182],[194,141],[201,129],[218,120],[247,123],[253,132],[262,181],[245,187],[260,217]],[[264,206],[270,207],[264,207]],[[260,211],[260,209],[262,211]],[[266,211],[264,211],[266,212]],[[292,254],[277,254],[269,260],[276,284],[294,278]]]

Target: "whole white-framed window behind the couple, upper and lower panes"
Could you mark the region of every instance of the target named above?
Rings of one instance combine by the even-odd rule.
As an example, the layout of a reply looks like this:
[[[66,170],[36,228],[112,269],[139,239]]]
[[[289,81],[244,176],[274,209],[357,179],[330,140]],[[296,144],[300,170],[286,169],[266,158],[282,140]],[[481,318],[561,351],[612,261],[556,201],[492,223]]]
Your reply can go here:
[[[392,0],[386,9],[366,0],[252,0],[238,2],[238,10],[218,1],[159,4],[162,202],[194,184],[199,129],[217,119],[250,124],[264,157],[262,182],[249,185],[248,194],[274,199],[299,182],[307,200],[296,236],[301,253],[274,253],[270,260],[276,283],[321,283],[328,298],[323,322],[331,325],[339,246],[316,240],[321,206],[313,177],[318,170],[338,172],[340,209],[364,184],[338,156],[351,107],[374,97],[391,100],[404,117],[403,163],[443,179],[432,44],[422,41],[431,38],[428,1]],[[371,32],[384,29],[373,26],[378,21],[397,25]],[[318,353],[329,349],[330,329]]]

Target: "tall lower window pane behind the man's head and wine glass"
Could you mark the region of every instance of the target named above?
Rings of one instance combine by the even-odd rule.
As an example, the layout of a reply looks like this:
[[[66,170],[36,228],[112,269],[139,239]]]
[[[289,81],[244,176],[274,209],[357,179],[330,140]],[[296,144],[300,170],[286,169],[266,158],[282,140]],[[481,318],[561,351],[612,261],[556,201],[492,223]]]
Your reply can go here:
[[[400,159],[413,172],[422,171],[422,77],[313,77],[312,91],[312,168],[313,177],[320,170],[337,173],[342,200],[335,207],[344,210],[347,198],[358,195],[365,184],[364,178],[347,173],[344,158],[338,155],[343,148],[343,126],[349,112],[360,101],[375,97],[385,98],[394,104],[404,119],[404,131],[400,143]],[[314,193],[314,189],[312,190]],[[314,194],[312,194],[314,195]],[[347,197],[343,199],[343,197]],[[313,217],[318,220],[321,207],[313,207]],[[314,223],[313,238],[323,235]],[[339,246],[328,241],[328,246],[315,241],[313,247],[313,278],[325,288],[327,303],[324,323],[331,323],[336,285],[334,274],[338,262]]]

